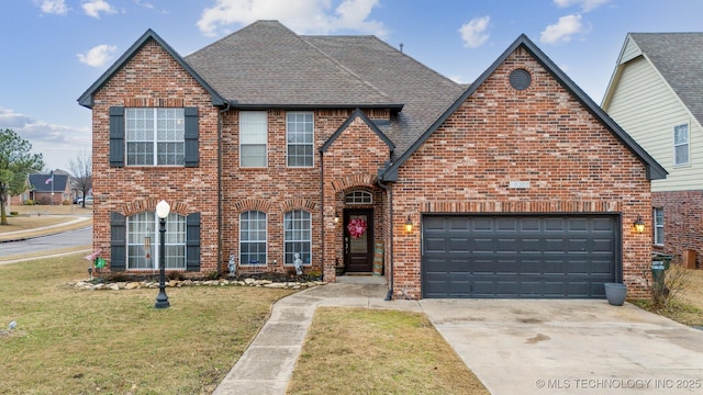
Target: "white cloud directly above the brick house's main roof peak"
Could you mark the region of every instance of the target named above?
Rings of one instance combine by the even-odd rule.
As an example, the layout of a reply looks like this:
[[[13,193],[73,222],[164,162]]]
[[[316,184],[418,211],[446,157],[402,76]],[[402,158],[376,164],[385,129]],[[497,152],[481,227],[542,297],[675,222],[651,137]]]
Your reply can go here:
[[[257,20],[279,20],[301,34],[328,34],[355,30],[379,37],[387,35],[383,24],[369,20],[379,0],[344,0],[333,10],[330,0],[216,0],[203,10],[197,26],[208,36],[231,24]]]

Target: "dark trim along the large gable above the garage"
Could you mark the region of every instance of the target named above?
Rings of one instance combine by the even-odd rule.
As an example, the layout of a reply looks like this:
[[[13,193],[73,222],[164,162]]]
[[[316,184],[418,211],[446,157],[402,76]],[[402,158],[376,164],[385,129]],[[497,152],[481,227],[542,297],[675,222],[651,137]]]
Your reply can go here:
[[[647,151],[644,150],[625,131],[623,131],[591,98],[585,94],[557,65],[551,61],[526,35],[522,34],[469,88],[405,150],[399,159],[381,174],[381,180],[397,181],[398,168],[420,148],[429,136],[469,98],[517,48],[524,48],[533,56],[571,95],[599,120],[626,148],[647,167],[650,180],[666,178],[667,171]]]

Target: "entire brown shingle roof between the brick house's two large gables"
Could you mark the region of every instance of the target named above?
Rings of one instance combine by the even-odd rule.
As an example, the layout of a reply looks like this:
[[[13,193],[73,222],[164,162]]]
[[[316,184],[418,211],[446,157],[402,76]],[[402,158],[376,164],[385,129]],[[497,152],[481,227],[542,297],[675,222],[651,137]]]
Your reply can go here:
[[[297,35],[259,21],[186,57],[238,108],[391,108],[404,151],[464,88],[375,36]]]

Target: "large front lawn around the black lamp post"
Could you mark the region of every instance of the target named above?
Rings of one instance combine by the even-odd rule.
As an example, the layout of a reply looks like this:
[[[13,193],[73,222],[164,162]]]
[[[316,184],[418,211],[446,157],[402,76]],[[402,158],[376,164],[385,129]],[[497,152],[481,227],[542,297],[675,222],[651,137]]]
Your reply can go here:
[[[0,393],[210,394],[291,291],[78,291],[80,256],[0,267]]]

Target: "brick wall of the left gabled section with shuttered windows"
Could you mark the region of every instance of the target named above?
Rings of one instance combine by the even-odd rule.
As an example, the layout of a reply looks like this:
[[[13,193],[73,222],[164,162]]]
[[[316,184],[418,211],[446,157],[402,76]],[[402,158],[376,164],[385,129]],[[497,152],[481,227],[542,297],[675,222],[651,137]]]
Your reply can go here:
[[[110,106],[199,108],[200,166],[112,168]],[[94,95],[93,247],[110,262],[110,212],[153,211],[165,199],[179,214],[201,213],[201,271],[217,269],[217,110],[210,94],[154,41]],[[136,207],[136,208],[135,208]]]

